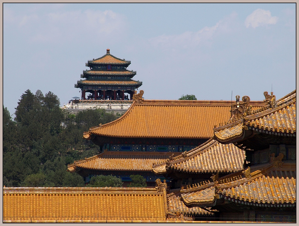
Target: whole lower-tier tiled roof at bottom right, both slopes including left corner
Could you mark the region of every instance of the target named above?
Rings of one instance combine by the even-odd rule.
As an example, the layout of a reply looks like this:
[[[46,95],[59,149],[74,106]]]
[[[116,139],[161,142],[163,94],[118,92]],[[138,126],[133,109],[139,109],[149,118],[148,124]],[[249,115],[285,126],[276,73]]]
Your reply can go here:
[[[181,197],[185,204],[206,206],[220,198],[242,201],[242,204],[294,204],[296,202],[296,166],[284,163],[281,168],[273,164],[254,166],[251,178],[242,175],[242,171],[219,178],[215,193],[214,183],[182,189]],[[253,171],[253,170],[251,170]]]

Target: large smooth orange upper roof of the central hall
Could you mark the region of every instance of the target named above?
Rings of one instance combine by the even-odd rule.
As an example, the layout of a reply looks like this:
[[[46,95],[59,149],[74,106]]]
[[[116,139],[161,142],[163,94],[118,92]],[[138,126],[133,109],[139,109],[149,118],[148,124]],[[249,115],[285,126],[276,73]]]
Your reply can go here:
[[[253,101],[254,109],[263,101]],[[144,100],[133,102],[119,119],[85,134],[108,137],[209,139],[214,125],[228,121],[231,101]],[[130,125],[128,127],[128,125]],[[86,136],[85,139],[89,139]]]

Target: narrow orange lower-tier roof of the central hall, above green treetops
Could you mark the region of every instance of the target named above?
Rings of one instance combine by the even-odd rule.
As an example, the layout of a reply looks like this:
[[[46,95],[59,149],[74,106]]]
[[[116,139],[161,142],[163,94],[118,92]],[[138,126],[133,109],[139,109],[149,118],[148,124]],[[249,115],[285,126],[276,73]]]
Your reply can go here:
[[[179,155],[179,152],[173,152]],[[68,171],[78,169],[116,170],[116,171],[152,171],[152,163],[169,157],[170,152],[104,151],[86,160],[75,161],[68,165]]]

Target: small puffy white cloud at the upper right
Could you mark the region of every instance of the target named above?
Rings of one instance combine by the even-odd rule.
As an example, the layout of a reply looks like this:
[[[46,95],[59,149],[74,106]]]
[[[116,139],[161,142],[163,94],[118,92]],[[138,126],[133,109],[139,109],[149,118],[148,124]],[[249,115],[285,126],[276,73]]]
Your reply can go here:
[[[256,28],[259,26],[264,26],[267,24],[276,24],[278,20],[277,16],[271,16],[269,10],[257,9],[254,10],[247,18],[245,19],[245,26]]]

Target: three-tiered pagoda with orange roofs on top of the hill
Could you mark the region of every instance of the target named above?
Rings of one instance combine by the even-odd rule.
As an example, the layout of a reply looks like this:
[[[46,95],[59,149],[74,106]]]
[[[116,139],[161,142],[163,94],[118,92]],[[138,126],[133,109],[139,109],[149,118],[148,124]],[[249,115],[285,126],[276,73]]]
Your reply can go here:
[[[126,69],[130,64],[129,60],[111,55],[110,49],[107,49],[104,56],[88,60],[86,66],[90,70],[85,70],[81,74],[81,78],[85,80],[81,79],[75,84],[75,88],[81,89],[81,99],[131,100],[134,91],[142,85],[142,82],[132,80],[136,71]],[[90,93],[87,98],[86,92]]]

